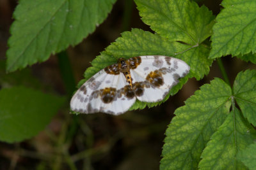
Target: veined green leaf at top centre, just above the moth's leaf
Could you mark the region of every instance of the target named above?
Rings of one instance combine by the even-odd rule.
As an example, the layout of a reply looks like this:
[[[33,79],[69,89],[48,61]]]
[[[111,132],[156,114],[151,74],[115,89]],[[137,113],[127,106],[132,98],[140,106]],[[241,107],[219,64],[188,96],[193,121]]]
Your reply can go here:
[[[135,0],[145,24],[165,38],[189,45],[212,34],[214,16],[205,6],[189,0]]]

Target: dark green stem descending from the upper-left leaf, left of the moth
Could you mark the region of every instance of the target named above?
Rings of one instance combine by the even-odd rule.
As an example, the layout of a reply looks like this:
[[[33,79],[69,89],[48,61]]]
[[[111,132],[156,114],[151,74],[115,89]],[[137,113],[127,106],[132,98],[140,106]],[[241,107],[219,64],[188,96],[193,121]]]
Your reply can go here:
[[[72,68],[68,59],[67,52],[64,51],[58,53],[58,61],[65,89],[68,96],[72,96],[73,92],[76,90],[76,81],[72,73]]]

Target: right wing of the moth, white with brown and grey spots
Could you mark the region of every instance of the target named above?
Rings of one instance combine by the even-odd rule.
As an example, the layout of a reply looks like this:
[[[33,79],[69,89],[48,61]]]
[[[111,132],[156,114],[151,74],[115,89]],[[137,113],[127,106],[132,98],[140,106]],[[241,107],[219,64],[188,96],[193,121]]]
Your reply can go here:
[[[183,60],[162,55],[140,57],[140,64],[131,69],[133,89],[140,101],[163,100],[179,78],[189,73],[190,67]]]

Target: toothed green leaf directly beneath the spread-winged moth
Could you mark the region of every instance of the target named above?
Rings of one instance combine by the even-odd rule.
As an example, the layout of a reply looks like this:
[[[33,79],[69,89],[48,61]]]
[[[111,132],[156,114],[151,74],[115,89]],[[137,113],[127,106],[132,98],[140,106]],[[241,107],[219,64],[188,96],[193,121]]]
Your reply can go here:
[[[109,45],[104,52],[92,61],[92,67],[86,70],[84,78],[88,80],[88,78],[100,71],[100,69],[116,63],[120,57],[129,59],[140,55],[166,55],[184,60],[191,68],[188,76],[181,79],[180,83],[170,91],[170,94],[173,95],[179,91],[189,77],[195,77],[197,80],[200,80],[205,74],[209,73],[209,66],[211,66],[212,60],[208,59],[208,54],[209,49],[202,45],[184,45],[183,43],[163,38],[159,34],[152,34],[140,29],[132,29],[131,32],[123,32],[122,37],[116,39],[115,43]],[[82,80],[79,86],[85,80]],[[166,101],[168,97],[163,101]],[[140,101],[136,101],[131,110],[143,109],[145,106],[152,107],[157,104],[160,103],[141,103]]]

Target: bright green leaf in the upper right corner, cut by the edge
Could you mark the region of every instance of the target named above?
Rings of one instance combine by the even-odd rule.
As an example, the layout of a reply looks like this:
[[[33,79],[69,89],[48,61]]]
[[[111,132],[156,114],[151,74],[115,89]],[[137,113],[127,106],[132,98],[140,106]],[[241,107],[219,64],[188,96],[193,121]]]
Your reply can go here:
[[[223,0],[211,37],[210,58],[256,52],[256,1]]]

